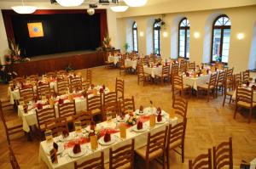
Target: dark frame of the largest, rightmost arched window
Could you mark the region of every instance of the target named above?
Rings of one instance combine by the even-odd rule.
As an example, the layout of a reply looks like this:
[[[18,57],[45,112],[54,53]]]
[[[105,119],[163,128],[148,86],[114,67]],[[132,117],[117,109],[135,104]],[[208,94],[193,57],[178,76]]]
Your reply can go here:
[[[214,37],[214,30],[216,29],[220,29],[220,49],[219,49],[219,53],[221,56],[221,63],[224,63],[225,65],[227,65],[228,63],[222,62],[222,49],[223,49],[223,38],[224,38],[224,30],[225,29],[230,29],[231,31],[231,24],[230,25],[215,25],[217,20],[220,18],[226,17],[230,20],[230,17],[226,14],[221,14],[219,15],[215,20],[213,20],[212,22],[212,42],[211,42],[211,63],[215,63],[216,61],[212,60],[212,48],[213,48],[213,37]],[[230,21],[231,23],[231,21]],[[231,36],[230,36],[231,37]],[[230,52],[230,49],[229,49]],[[229,54],[230,57],[230,54]]]

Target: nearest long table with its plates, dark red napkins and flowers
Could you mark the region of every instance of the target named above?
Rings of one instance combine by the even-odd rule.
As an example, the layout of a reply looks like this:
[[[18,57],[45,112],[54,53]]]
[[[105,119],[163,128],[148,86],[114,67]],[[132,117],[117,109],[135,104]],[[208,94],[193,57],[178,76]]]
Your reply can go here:
[[[152,118],[154,125],[152,125]],[[150,131],[162,130],[169,124],[176,125],[177,117],[171,116],[166,111],[152,106],[143,108],[126,115],[116,115],[113,119],[81,128],[79,131],[70,132],[68,138],[59,136],[51,141],[40,143],[40,159],[49,168],[73,168],[74,161],[90,159],[97,152],[104,151],[105,161],[108,162],[108,150],[117,144],[125,144],[131,138],[135,138],[135,149],[143,147],[147,143],[147,134]],[[125,134],[124,134],[125,132]],[[125,137],[124,137],[125,135]],[[92,149],[92,138],[96,137],[96,149]],[[57,153],[58,162],[52,163],[49,157],[49,149],[53,144],[60,144],[61,149]],[[64,149],[64,150],[63,150]]]

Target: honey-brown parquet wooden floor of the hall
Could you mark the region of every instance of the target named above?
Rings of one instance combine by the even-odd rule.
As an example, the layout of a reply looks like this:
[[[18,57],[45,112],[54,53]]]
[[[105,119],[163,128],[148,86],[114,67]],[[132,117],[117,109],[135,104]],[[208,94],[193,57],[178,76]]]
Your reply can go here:
[[[153,100],[155,106],[163,110],[172,109],[172,93],[169,85],[137,85],[137,76],[119,76],[119,70],[108,70],[97,67],[93,70],[93,83],[105,84],[111,90],[114,89],[115,78],[125,79],[125,97],[135,97],[136,108],[140,105],[148,106],[149,100]],[[84,70],[83,70],[84,71]],[[7,86],[0,85],[0,98],[7,97]],[[256,112],[254,112],[251,124],[247,124],[247,110],[243,115],[233,119],[234,104],[222,106],[223,97],[211,99],[209,103],[203,97],[189,99],[188,125],[185,138],[185,162],[181,162],[179,155],[171,154],[171,168],[188,168],[189,159],[196,155],[206,153],[208,148],[233,138],[234,168],[239,168],[241,160],[252,161],[256,158]],[[256,110],[254,110],[256,111]],[[17,118],[13,111],[6,112],[8,120]],[[28,142],[25,136],[17,136],[12,141],[15,155],[21,168],[47,168],[39,161],[39,140],[33,138]],[[141,165],[140,165],[141,166]],[[151,168],[160,168],[157,162],[150,165]],[[0,123],[0,168],[11,168],[3,123]],[[143,168],[143,167],[142,167]]]

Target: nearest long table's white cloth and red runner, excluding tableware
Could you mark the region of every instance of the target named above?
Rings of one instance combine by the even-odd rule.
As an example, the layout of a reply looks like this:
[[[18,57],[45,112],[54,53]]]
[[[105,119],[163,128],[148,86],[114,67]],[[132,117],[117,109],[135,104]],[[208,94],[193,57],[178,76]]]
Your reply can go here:
[[[146,108],[149,109],[149,108]],[[137,110],[138,111],[138,110]],[[137,112],[136,111],[136,112]],[[163,122],[156,123],[154,127],[149,127],[149,115],[138,115],[138,118],[143,118],[143,130],[142,132],[136,132],[136,130],[133,129],[133,127],[137,127],[136,125],[133,127],[126,127],[126,138],[120,137],[119,132],[119,121],[117,118],[112,119],[111,121],[103,121],[102,123],[99,123],[96,125],[96,127],[100,128],[101,130],[110,130],[113,131],[111,134],[111,140],[112,144],[99,144],[98,148],[95,150],[90,149],[90,141],[89,142],[83,142],[81,140],[84,139],[86,135],[86,131],[90,130],[90,127],[86,127],[82,129],[82,132],[70,132],[69,137],[67,141],[63,141],[61,139],[62,136],[53,138],[55,143],[64,146],[64,150],[58,155],[58,162],[52,163],[49,158],[49,150],[52,149],[53,142],[49,141],[43,141],[40,143],[39,147],[39,156],[42,161],[49,167],[49,168],[61,168],[61,169],[73,169],[74,168],[74,161],[82,162],[89,160],[90,158],[95,157],[99,154],[99,152],[104,152],[104,161],[105,163],[109,161],[109,149],[110,148],[117,148],[121,145],[129,144],[131,143],[131,139],[135,138],[135,149],[139,149],[147,144],[147,138],[148,138],[148,132],[159,132],[160,130],[164,130],[166,126],[169,124],[172,124],[172,126],[176,125],[178,122],[177,117],[169,118],[169,114],[162,110],[162,115],[164,116]],[[61,140],[61,141],[60,141]],[[99,143],[101,138],[99,138]],[[70,144],[70,142],[75,143],[82,143],[81,149],[84,152],[83,155],[79,157],[73,157],[72,151],[73,146]],[[64,144],[64,145],[63,145]],[[71,145],[71,146],[70,146]]]

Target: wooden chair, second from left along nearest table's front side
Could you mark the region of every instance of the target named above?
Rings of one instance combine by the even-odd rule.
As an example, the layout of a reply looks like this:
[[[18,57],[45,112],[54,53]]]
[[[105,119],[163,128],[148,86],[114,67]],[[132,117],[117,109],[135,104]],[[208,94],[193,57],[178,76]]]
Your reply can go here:
[[[131,144],[126,144],[113,150],[109,149],[109,169],[133,169],[134,168],[134,139]]]

